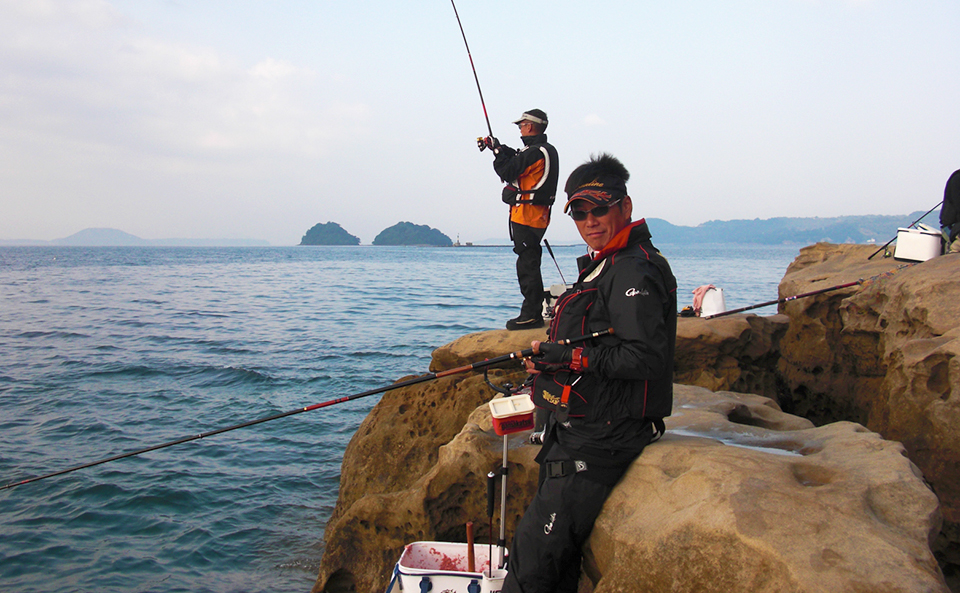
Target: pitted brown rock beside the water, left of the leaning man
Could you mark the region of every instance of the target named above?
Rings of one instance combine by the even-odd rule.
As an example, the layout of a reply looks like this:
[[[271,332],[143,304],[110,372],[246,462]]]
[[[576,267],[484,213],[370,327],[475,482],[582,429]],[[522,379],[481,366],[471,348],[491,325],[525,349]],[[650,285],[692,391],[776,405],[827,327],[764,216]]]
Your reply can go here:
[[[533,340],[545,338],[543,329],[470,334],[435,350],[430,370],[445,371],[516,352],[529,348]],[[490,379],[498,385],[519,383],[526,376],[519,363],[502,367],[506,368],[489,371]],[[478,538],[485,541],[489,533],[481,526],[485,524],[485,510],[483,515],[468,514],[467,509],[457,507],[470,497],[477,498],[476,505],[485,504],[485,476],[502,455],[502,441],[491,435],[474,435],[472,445],[486,445],[469,456],[460,450],[461,444],[451,441],[468,424],[477,406],[495,395],[482,374],[471,373],[388,391],[382,396],[344,453],[340,493],[327,523],[315,590],[339,590],[345,584],[356,584],[361,591],[382,591],[386,587],[384,575],[390,573],[405,544],[424,539],[462,539],[468,520],[478,523]],[[473,465],[456,470],[438,466],[442,457],[450,456],[471,460]],[[528,461],[532,464],[533,458]],[[411,488],[420,487],[427,488],[431,500],[410,495]],[[522,513],[524,496],[525,492],[518,491],[510,497],[511,511],[517,516]]]

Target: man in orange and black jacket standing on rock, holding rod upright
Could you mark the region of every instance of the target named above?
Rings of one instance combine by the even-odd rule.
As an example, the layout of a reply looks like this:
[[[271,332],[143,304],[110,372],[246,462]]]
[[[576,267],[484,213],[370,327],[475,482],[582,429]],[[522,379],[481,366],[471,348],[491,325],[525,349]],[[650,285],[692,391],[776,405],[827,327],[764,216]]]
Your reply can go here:
[[[514,150],[487,137],[493,150],[493,169],[506,183],[502,199],[510,205],[510,238],[517,254],[517,280],[523,305],[507,329],[543,327],[543,278],[540,276],[540,240],[550,224],[550,206],[560,177],[557,149],[547,142],[547,114],[525,111],[513,122],[520,127],[523,148]]]

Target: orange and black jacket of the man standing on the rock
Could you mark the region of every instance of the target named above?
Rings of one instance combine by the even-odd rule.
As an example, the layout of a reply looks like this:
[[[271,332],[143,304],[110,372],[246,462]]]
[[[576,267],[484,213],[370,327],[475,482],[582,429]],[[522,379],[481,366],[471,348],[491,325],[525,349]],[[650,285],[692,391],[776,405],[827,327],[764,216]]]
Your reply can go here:
[[[503,188],[503,201],[511,206],[551,206],[557,197],[560,178],[557,149],[547,142],[546,134],[522,139],[524,147],[520,150],[501,145],[494,151],[493,170],[507,184]]]

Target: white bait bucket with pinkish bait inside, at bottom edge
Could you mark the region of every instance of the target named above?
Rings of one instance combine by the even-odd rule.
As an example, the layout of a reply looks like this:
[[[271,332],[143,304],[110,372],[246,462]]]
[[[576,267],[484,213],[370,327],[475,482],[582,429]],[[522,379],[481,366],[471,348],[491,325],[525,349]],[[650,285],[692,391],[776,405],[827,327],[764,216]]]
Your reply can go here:
[[[420,593],[420,583],[426,579],[431,593],[499,593],[507,571],[495,568],[490,574],[490,546],[473,544],[476,572],[467,572],[467,551],[467,544],[463,543],[407,544],[394,569],[395,576],[399,577],[396,579],[398,590]],[[493,546],[494,557],[499,551],[499,547]]]

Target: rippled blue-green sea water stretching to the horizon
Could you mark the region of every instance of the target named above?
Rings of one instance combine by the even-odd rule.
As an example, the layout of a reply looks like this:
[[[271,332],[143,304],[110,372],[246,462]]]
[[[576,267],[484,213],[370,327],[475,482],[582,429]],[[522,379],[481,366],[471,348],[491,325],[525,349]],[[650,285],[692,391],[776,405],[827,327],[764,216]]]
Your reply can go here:
[[[661,249],[681,306],[715,284],[731,309],[776,299],[798,252]],[[554,246],[567,281],[582,252]],[[425,373],[437,346],[517,314],[514,263],[508,247],[0,247],[0,485]],[[546,252],[543,275],[561,281]],[[378,397],[0,491],[0,589],[309,591]]]

